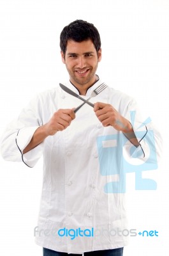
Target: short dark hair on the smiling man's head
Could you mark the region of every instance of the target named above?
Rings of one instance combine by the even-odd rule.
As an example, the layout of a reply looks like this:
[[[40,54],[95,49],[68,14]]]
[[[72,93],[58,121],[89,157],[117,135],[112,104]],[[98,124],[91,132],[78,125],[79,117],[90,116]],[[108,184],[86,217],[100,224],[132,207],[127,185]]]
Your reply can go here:
[[[68,40],[82,42],[91,39],[96,51],[101,47],[101,40],[98,29],[93,24],[84,20],[75,20],[62,29],[60,35],[61,51],[65,54]]]

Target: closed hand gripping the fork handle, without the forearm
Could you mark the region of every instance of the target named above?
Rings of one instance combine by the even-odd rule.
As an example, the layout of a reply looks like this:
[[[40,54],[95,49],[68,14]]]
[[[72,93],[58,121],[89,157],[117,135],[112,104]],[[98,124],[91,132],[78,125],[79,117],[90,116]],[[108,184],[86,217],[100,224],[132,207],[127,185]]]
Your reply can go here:
[[[52,118],[44,125],[47,136],[54,135],[58,131],[63,131],[75,119],[73,109],[59,109],[54,113]]]

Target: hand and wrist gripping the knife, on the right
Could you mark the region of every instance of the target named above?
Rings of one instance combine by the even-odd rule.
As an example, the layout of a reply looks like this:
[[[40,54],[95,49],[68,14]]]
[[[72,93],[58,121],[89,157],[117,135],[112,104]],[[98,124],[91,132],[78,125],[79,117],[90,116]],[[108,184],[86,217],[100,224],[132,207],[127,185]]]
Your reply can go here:
[[[117,131],[124,133],[133,132],[130,122],[121,116],[112,105],[97,102],[94,104],[94,112],[103,126],[111,125]]]

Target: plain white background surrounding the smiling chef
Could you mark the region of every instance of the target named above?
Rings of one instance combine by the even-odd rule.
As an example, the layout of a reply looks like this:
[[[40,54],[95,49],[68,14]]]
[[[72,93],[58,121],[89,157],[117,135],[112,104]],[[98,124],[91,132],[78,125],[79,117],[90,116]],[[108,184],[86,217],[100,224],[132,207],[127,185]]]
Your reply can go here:
[[[131,173],[126,194],[130,227],[158,230],[159,237],[131,237],[124,255],[167,255],[168,0],[1,0],[0,134],[36,93],[68,77],[59,35],[75,19],[87,20],[99,30],[103,59],[98,75],[109,86],[135,97],[145,118],[151,116],[163,136],[159,168],[145,173],[156,180],[158,189],[135,191],[135,173]],[[41,159],[27,168],[0,158],[0,255],[42,255],[33,236],[42,164]]]

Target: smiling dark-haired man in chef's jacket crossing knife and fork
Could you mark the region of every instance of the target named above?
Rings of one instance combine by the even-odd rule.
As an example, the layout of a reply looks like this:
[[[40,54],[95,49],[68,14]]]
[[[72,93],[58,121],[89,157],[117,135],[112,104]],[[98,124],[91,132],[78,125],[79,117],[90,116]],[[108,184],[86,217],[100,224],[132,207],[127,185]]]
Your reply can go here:
[[[103,83],[96,75],[101,61],[98,30],[84,20],[75,20],[62,30],[60,45],[70,75],[70,81],[63,84],[87,100]],[[75,113],[81,100],[59,86],[40,93],[7,129],[1,143],[4,159],[23,161],[29,167],[43,154],[40,216],[34,234],[45,256],[121,256],[128,244],[127,236],[122,235],[127,220],[121,141],[128,141],[128,155],[135,145],[134,151],[143,159],[147,150],[143,137],[149,132],[143,125],[142,138],[136,138],[135,129],[142,120],[135,100],[128,95],[107,87],[89,101],[94,103],[93,109],[85,102]],[[129,122],[129,111],[136,113],[136,127]],[[105,148],[113,147],[109,136],[117,138],[119,149],[114,154],[104,154],[105,148],[99,144],[103,136]],[[113,164],[108,165],[112,159]],[[116,189],[111,180],[114,168],[121,177]]]

